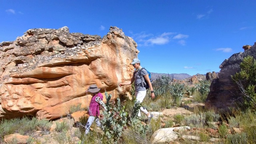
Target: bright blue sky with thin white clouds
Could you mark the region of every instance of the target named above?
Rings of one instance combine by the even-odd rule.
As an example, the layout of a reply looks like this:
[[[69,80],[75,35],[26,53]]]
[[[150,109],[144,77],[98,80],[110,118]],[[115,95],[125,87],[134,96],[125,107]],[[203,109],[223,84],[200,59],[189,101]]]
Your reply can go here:
[[[100,35],[122,28],[138,44],[142,67],[156,73],[219,72],[256,42],[255,0],[0,0],[0,42],[31,28],[68,26]]]

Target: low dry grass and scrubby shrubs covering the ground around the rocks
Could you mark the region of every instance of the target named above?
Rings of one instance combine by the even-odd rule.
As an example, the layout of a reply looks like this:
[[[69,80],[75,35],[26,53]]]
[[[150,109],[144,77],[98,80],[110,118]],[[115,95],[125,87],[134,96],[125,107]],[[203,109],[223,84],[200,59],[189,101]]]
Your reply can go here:
[[[202,108],[194,108],[192,114],[175,114],[174,116],[163,120],[164,116],[159,116],[157,119],[152,119],[149,124],[145,124],[145,116],[142,115],[141,120],[137,117],[137,112],[140,106],[144,106],[149,111],[161,111],[162,108],[177,108],[180,106],[181,99],[187,96],[193,97],[193,102],[204,102],[208,92],[210,91],[210,82],[201,81],[196,86],[188,86],[186,84],[172,83],[172,78],[162,76],[154,83],[154,91],[156,91],[156,99],[152,100],[146,96],[143,103],[135,103],[135,98],[121,102],[120,99],[116,101],[110,100],[111,94],[106,95],[108,108],[103,111],[104,118],[102,119],[102,127],[98,128],[96,124],[92,124],[91,132],[84,135],[84,125],[87,122],[87,117],[83,116],[77,123],[76,130],[70,130],[70,125],[67,121],[56,122],[56,128],[53,132],[53,140],[56,143],[75,144],[144,144],[150,143],[152,134],[160,128],[170,128],[173,124],[180,124],[180,126],[190,126],[190,133],[198,136],[200,140],[192,142],[188,139],[183,139],[182,135],[188,132],[178,132],[178,139],[181,144],[211,142],[213,144],[248,144],[255,143],[256,139],[256,113],[253,106],[248,106],[246,110],[234,110],[233,115],[226,114],[224,119],[220,114],[213,110],[204,110]],[[161,85],[162,84],[162,85]],[[132,89],[134,92],[134,89]],[[250,90],[250,89],[249,89]],[[252,92],[252,91],[250,91]],[[134,93],[133,93],[134,94]],[[250,95],[252,96],[252,95]],[[184,102],[189,104],[192,101]],[[252,104],[248,102],[247,104]],[[252,108],[252,110],[250,110]],[[83,110],[81,105],[72,106],[70,113]],[[222,122],[217,125],[218,120],[222,118]],[[226,122],[227,120],[228,122]],[[164,124],[164,125],[163,125]],[[33,136],[35,130],[41,130],[44,134],[50,133],[51,121],[37,120],[36,118],[14,118],[11,120],[2,120],[0,122],[0,143],[4,143],[3,136],[8,134],[19,134]],[[206,131],[210,128],[213,133]],[[234,132],[234,128],[239,128],[240,133]],[[231,132],[231,133],[230,133]],[[79,140],[75,140],[75,137]],[[218,141],[212,142],[212,138],[217,138]],[[10,143],[17,142],[13,139]],[[41,144],[39,140],[29,138],[28,144]]]

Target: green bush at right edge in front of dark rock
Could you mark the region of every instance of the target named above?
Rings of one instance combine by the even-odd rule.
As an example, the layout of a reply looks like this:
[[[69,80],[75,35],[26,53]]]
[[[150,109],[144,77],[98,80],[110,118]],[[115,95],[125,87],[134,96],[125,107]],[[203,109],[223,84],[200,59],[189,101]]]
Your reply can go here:
[[[242,110],[256,111],[256,60],[252,56],[245,57],[240,63],[240,69],[240,72],[231,77],[244,93]]]

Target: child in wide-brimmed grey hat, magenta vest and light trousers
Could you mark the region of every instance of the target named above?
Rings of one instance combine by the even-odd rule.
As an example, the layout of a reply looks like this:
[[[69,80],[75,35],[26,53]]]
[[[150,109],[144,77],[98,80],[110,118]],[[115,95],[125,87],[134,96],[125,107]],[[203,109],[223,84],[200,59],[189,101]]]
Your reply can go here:
[[[100,104],[105,106],[104,103],[102,102],[103,100],[103,95],[100,93],[100,88],[97,87],[96,84],[92,84],[89,86],[88,90],[86,92],[90,92],[92,95],[92,99],[89,105],[89,118],[87,120],[86,126],[85,126],[85,134],[88,134],[90,132],[90,126],[95,122],[97,126],[101,126],[100,124]],[[106,108],[105,108],[106,109]]]

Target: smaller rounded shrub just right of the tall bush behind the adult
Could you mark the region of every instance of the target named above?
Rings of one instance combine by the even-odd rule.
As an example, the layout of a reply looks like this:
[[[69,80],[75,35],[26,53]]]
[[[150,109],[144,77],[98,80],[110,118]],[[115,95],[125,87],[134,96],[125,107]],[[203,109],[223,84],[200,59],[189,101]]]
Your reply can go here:
[[[174,103],[176,103],[184,96],[184,94],[186,94],[185,84],[178,84],[178,83],[171,84],[170,93],[172,95]]]

